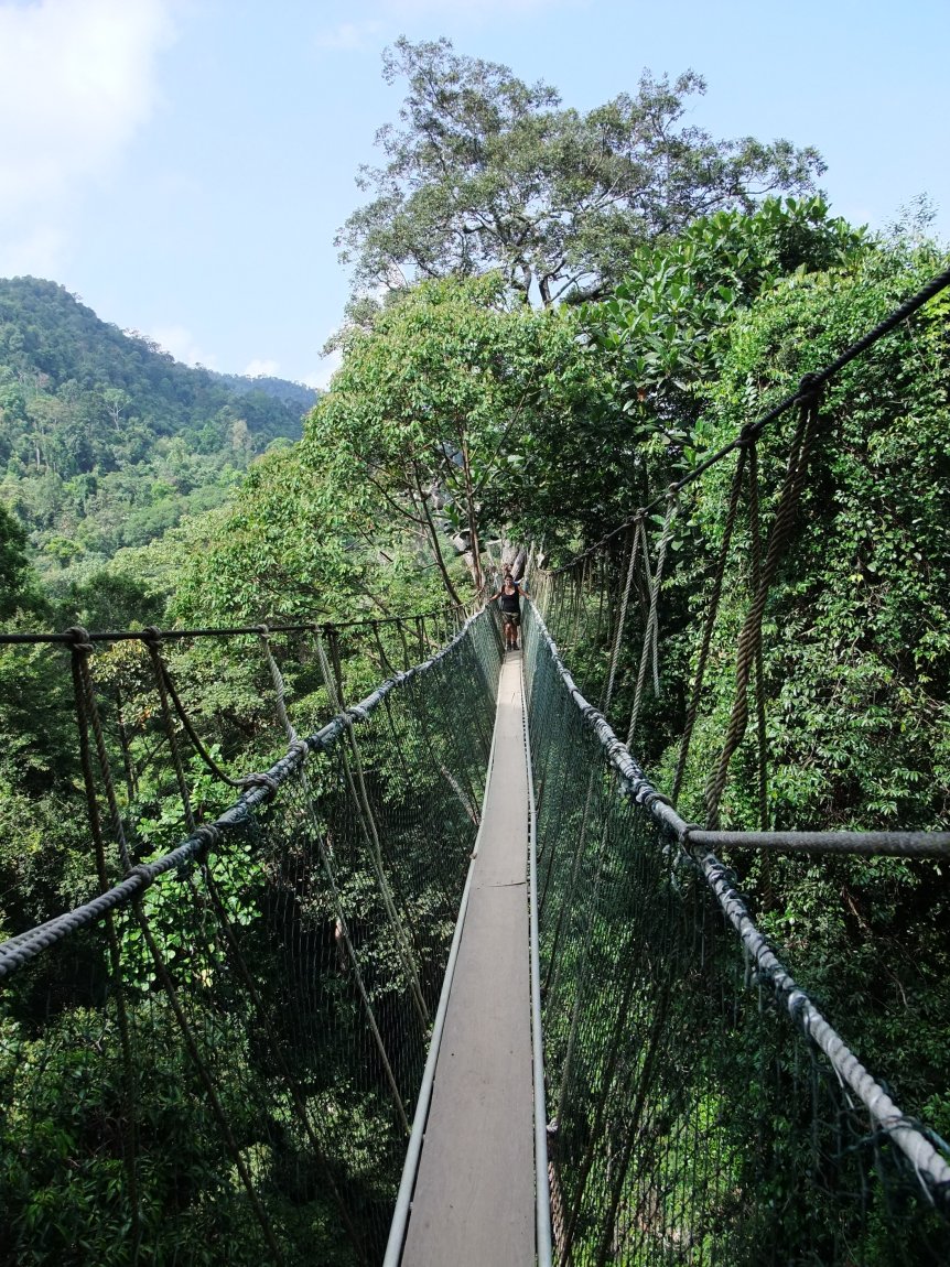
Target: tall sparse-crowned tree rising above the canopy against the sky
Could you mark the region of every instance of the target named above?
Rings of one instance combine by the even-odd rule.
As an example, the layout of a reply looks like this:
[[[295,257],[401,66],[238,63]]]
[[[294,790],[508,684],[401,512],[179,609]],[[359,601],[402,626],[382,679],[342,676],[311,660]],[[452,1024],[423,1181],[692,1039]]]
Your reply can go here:
[[[408,80],[403,125],[377,132],[385,165],[357,177],[374,196],[336,239],[357,294],[500,269],[545,307],[594,298],[636,246],[769,191],[812,190],[825,170],[811,147],[685,125],[688,99],[706,91],[694,71],[673,82],[645,71],[635,96],[586,114],[445,38],[396,41],[384,77]]]

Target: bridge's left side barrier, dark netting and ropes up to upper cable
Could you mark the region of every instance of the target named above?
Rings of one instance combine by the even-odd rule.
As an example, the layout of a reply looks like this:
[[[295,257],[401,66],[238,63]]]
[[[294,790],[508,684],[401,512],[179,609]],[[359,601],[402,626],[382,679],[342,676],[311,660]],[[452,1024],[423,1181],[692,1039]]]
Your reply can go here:
[[[497,623],[461,620],[241,635],[284,755],[213,821],[196,641],[147,635],[117,707],[117,644],[70,635],[90,896],[3,896],[0,1262],[381,1259],[491,737]]]

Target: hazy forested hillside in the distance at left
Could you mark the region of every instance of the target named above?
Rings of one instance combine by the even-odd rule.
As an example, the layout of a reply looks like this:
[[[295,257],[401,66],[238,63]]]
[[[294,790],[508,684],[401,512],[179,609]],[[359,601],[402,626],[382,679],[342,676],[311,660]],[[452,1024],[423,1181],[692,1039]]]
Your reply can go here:
[[[53,281],[0,279],[0,498],[48,579],[220,504],[315,399],[180,365]]]

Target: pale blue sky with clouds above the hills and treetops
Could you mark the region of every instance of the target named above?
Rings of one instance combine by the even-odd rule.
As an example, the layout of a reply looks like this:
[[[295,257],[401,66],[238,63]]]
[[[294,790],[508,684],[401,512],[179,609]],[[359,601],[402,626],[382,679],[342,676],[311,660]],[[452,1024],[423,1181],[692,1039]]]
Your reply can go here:
[[[400,34],[581,110],[692,67],[690,122],[817,146],[855,223],[926,193],[950,239],[947,0],[0,0],[0,276],[60,281],[180,360],[326,383],[333,236],[396,117]]]

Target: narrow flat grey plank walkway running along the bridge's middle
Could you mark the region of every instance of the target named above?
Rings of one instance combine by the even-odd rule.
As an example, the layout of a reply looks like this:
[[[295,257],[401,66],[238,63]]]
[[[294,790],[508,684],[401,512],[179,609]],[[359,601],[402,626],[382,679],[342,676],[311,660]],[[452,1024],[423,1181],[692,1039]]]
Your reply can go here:
[[[521,654],[509,654],[404,1267],[535,1263],[527,856]]]

